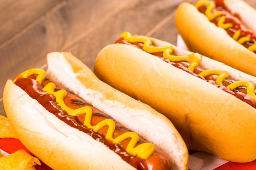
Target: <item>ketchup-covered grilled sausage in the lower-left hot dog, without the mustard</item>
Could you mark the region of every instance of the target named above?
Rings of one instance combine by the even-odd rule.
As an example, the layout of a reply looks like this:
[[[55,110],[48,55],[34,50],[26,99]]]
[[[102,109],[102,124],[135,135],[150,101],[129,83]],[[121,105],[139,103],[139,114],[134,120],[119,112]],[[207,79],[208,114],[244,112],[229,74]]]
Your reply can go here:
[[[49,94],[43,91],[43,88],[47,86],[47,84],[51,83],[49,79],[43,79],[42,84],[36,81],[37,75],[29,76],[28,78],[21,78],[15,81],[17,86],[20,86],[24,91],[28,93],[28,95],[34,99],[36,99],[42,106],[46,108],[49,112],[53,113],[58,119],[61,119],[66,124],[81,130],[88,135],[92,136],[95,140],[104,143],[111,150],[117,153],[124,161],[130,163],[131,166],[137,168],[138,170],[170,170],[172,163],[168,160],[167,156],[156,148],[153,155],[151,155],[148,159],[141,159],[138,156],[131,156],[126,152],[126,146],[128,145],[130,139],[125,139],[121,141],[119,144],[114,144],[111,141],[105,138],[106,133],[108,131],[108,126],[104,126],[98,132],[94,132],[92,129],[83,125],[85,121],[85,114],[79,114],[77,116],[70,116],[64,110],[62,110],[59,104],[56,102],[56,97],[52,94]],[[55,91],[59,91],[64,89],[67,91],[67,95],[64,98],[65,104],[72,108],[81,108],[83,106],[89,106],[92,108],[92,119],[91,124],[98,124],[100,121],[104,119],[111,119],[108,115],[101,112],[97,108],[94,108],[92,105],[85,102],[83,99],[63,88],[62,86],[56,84]],[[115,132],[113,137],[118,137],[125,132],[130,132],[129,129],[125,128],[121,124],[115,121]],[[139,138],[137,145],[146,143],[146,141],[142,138]]]

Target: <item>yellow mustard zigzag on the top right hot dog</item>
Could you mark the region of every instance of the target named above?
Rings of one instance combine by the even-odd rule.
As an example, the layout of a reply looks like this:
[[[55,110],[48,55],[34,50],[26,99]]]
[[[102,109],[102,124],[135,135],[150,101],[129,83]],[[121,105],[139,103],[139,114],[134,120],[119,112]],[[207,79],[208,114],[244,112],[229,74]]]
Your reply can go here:
[[[216,11],[214,13],[212,13],[213,9],[216,8],[216,4],[212,1],[208,1],[208,0],[200,0],[198,2],[195,3],[195,7],[199,8],[202,6],[208,6],[204,15],[207,16],[209,21],[213,21],[215,18],[219,17],[222,15],[221,11]],[[233,25],[231,23],[224,23],[226,19],[226,16],[221,16],[220,20],[218,20],[217,26],[222,28],[222,29],[229,29],[231,28]],[[233,35],[233,39],[235,41],[237,41],[239,44],[243,44],[245,42],[249,42],[251,39],[250,37],[246,36],[246,37],[242,37],[239,39],[240,35],[241,35],[241,30],[239,29],[238,31],[236,31],[236,33],[234,33]],[[248,47],[249,51],[256,51],[256,42],[254,42],[254,45],[251,45]]]

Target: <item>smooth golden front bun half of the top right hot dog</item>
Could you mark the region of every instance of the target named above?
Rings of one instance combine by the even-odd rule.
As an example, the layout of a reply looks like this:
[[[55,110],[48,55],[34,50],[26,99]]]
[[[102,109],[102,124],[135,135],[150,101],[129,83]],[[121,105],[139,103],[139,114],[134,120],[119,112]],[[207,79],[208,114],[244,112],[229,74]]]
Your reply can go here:
[[[193,4],[179,5],[175,23],[189,50],[256,76],[256,55],[233,40],[224,29],[209,22]]]

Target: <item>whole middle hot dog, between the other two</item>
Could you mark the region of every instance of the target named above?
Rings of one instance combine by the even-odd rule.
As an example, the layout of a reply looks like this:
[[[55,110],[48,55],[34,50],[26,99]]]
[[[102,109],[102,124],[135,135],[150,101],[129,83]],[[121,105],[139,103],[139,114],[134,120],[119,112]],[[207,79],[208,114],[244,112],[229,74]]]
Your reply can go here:
[[[99,52],[94,73],[170,119],[188,149],[234,162],[256,159],[252,75],[168,42],[128,32],[121,34],[117,44]]]

